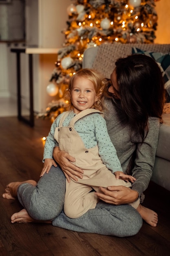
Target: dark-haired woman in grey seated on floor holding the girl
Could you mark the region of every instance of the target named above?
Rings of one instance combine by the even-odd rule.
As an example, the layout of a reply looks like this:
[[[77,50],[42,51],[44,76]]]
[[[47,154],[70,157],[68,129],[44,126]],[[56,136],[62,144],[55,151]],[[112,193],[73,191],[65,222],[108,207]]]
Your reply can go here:
[[[165,101],[161,71],[157,63],[145,55],[119,59],[111,74],[108,92],[108,111],[105,113],[108,133],[124,173],[131,173],[136,179],[132,189],[124,186],[101,188],[104,194],[96,193],[102,200],[96,208],[77,219],[70,219],[62,211],[65,176],[59,167],[52,166],[38,184],[26,181],[7,185],[3,197],[15,198],[17,195],[25,208],[11,216],[12,223],[43,220],[73,231],[119,237],[138,233],[141,216],[127,204],[139,196],[142,198],[152,176]],[[78,168],[71,163],[75,161],[74,157],[57,147],[53,157],[66,176],[75,180],[76,175],[82,177],[81,166]],[[156,213],[149,214],[155,216],[156,224]]]

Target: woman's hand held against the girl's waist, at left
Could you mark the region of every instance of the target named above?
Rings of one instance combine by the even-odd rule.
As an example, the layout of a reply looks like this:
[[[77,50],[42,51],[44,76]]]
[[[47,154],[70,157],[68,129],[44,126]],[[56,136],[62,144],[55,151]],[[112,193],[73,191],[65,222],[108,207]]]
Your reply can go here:
[[[71,157],[64,150],[60,150],[59,147],[55,147],[53,150],[53,158],[62,168],[68,182],[70,182],[70,177],[75,181],[78,181],[77,177],[82,179],[83,176],[81,173],[84,173],[84,171],[71,163],[75,162],[74,157]]]

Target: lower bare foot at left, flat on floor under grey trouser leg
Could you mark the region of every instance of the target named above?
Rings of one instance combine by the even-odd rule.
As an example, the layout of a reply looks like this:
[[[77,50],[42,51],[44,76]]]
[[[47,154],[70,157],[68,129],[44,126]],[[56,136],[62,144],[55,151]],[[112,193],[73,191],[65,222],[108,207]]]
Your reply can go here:
[[[15,222],[18,222],[18,223],[41,222],[41,223],[49,223],[49,224],[52,223],[51,220],[35,220],[31,218],[31,216],[29,216],[26,209],[22,209],[21,211],[14,213],[11,216],[11,223],[15,223]]]

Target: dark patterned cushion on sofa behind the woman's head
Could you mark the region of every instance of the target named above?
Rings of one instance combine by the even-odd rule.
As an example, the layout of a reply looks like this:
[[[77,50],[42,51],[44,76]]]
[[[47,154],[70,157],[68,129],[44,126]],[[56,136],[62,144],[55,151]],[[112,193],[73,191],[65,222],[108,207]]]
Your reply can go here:
[[[170,53],[150,52],[132,47],[132,54],[145,54],[153,58],[158,63],[162,71],[165,89],[167,90],[169,96],[168,98],[170,99]]]

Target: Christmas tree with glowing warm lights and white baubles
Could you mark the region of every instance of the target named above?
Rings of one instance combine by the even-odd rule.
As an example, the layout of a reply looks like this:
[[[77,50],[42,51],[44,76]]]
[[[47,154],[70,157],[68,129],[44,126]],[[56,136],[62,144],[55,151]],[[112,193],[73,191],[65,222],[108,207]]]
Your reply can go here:
[[[155,0],[156,1],[156,0]],[[69,79],[82,67],[84,50],[102,43],[153,43],[157,27],[154,0],[74,0],[67,8],[63,47],[47,86],[51,102],[42,117],[55,119],[65,110]]]

